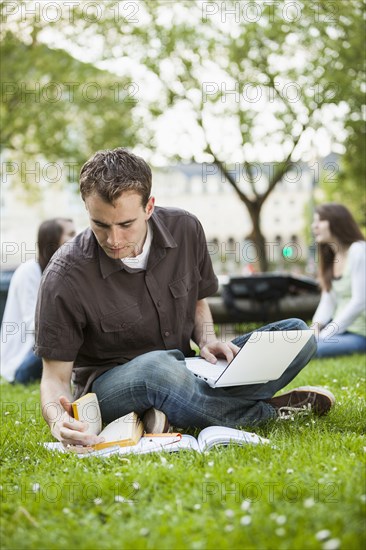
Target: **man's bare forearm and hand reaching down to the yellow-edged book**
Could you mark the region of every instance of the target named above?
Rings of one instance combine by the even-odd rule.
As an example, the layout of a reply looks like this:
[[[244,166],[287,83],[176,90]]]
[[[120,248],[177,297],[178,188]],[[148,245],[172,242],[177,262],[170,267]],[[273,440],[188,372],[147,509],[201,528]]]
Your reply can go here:
[[[101,438],[87,434],[86,422],[72,416],[73,401],[70,389],[73,362],[43,359],[41,380],[42,414],[52,435],[67,446],[94,445]]]

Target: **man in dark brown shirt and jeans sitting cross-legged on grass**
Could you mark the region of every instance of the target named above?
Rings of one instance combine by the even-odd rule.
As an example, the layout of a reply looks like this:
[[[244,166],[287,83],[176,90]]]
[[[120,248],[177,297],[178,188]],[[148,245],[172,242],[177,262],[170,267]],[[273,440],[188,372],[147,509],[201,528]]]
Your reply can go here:
[[[330,409],[334,396],[323,389],[273,397],[313,357],[314,337],[278,380],[265,384],[213,389],[186,368],[191,339],[215,363],[230,361],[250,334],[228,343],[215,337],[205,298],[216,292],[217,279],[201,224],[188,212],[155,207],[142,158],[122,148],[97,152],[81,170],[80,191],[90,228],[51,260],[36,314],[43,414],[58,440],[99,441],[71,417],[70,402],[88,391],[97,394],[104,422],[135,411],[151,432],[166,430],[168,420],[237,427],[288,408]],[[289,319],[260,330],[306,329]]]

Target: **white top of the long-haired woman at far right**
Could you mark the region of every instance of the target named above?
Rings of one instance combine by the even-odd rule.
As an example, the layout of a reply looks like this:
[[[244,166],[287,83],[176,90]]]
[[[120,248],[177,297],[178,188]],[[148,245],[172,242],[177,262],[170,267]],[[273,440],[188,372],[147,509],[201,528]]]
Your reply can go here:
[[[320,337],[342,334],[355,324],[360,325],[360,331],[357,332],[362,334],[365,331],[366,241],[357,241],[349,247],[344,273],[339,282],[341,284],[338,284],[337,279],[334,280],[331,290],[322,292],[315,312],[313,322],[325,327]],[[344,295],[345,290],[348,290],[348,297]],[[327,328],[331,319],[332,323]]]

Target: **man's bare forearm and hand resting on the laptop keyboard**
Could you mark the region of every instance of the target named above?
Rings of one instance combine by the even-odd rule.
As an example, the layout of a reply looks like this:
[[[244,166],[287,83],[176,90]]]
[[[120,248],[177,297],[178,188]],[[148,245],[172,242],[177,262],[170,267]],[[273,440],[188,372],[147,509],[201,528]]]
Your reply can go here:
[[[193,340],[200,348],[200,355],[210,363],[217,357],[225,357],[230,362],[240,348],[232,342],[220,342],[215,334],[214,322],[207,300],[198,300],[194,318]]]

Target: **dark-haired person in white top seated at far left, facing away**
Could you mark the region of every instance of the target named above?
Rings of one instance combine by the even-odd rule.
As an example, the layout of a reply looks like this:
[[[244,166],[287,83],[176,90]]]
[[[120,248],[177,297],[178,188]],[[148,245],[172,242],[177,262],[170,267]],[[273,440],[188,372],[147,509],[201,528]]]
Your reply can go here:
[[[1,375],[26,384],[41,378],[42,360],[34,355],[34,315],[42,273],[56,250],[74,237],[68,218],[44,221],[38,229],[38,258],[22,263],[11,278],[1,323]]]

